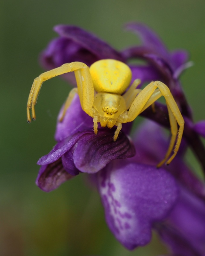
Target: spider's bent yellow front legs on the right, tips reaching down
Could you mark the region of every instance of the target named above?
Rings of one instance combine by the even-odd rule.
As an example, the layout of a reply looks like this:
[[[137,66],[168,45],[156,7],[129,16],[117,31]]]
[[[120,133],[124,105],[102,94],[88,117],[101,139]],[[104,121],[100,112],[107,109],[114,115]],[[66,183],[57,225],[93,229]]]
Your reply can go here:
[[[158,88],[158,89],[157,89]],[[157,89],[157,90],[156,90]],[[170,164],[176,156],[184,130],[184,119],[179,111],[177,103],[175,102],[169,88],[160,81],[151,82],[148,84],[135,98],[128,111],[128,122],[133,121],[141,112],[148,108],[160,96],[164,96],[169,112],[170,126],[171,126],[171,140],[165,158],[157,165],[157,167]],[[177,127],[179,125],[179,129]],[[176,143],[175,143],[176,141]],[[174,146],[175,145],[175,146]],[[173,150],[174,148],[174,150]],[[172,156],[169,158],[173,150]],[[168,159],[169,158],[169,159]]]

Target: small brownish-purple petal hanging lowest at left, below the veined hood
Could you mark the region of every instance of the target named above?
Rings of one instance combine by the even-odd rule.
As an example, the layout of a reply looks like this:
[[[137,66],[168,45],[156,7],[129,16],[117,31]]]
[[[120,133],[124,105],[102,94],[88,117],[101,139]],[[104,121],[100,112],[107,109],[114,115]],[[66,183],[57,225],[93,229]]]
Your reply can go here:
[[[41,166],[36,185],[45,192],[58,188],[63,182],[74,176],[65,171],[61,159],[51,164]]]

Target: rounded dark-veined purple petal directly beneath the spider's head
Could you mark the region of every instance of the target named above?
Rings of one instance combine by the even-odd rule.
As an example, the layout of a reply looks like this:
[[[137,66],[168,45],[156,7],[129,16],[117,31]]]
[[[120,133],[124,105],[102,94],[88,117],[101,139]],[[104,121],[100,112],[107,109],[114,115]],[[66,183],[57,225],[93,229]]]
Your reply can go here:
[[[97,135],[91,132],[78,140],[73,153],[78,170],[95,173],[112,160],[135,155],[135,148],[123,132],[113,141],[114,131],[115,129],[99,129]]]

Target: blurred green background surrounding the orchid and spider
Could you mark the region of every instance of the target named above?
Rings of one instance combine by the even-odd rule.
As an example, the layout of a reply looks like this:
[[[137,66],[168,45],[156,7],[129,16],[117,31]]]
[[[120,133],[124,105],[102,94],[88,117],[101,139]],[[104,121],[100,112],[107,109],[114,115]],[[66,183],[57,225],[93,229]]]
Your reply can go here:
[[[0,255],[159,255],[157,236],[148,246],[125,250],[110,233],[98,193],[85,175],[45,193],[35,186],[37,160],[54,146],[59,108],[69,91],[59,77],[43,85],[37,121],[27,124],[26,102],[33,79],[44,70],[39,52],[57,35],[56,24],[73,24],[116,49],[138,44],[125,32],[129,21],[153,28],[170,50],[184,48],[194,66],[181,77],[195,121],[204,119],[205,2],[203,0],[5,1],[1,28]],[[140,119],[141,120],[141,119]],[[190,154],[189,164],[199,169]]]

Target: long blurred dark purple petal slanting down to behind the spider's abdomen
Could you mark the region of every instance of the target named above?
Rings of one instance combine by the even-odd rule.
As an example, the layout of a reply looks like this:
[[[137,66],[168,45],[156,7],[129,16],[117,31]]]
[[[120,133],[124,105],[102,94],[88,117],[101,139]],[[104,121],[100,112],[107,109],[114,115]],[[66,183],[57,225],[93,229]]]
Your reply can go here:
[[[116,59],[123,61],[119,52],[115,51],[109,46],[109,44],[82,28],[68,25],[57,25],[54,27],[54,31],[56,31],[60,36],[72,39],[74,42],[98,56],[99,60]]]

